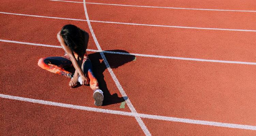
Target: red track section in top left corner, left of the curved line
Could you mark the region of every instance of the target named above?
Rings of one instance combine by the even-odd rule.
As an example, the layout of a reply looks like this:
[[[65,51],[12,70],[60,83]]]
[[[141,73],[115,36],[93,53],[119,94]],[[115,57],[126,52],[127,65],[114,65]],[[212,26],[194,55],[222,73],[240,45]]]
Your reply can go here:
[[[84,6],[79,3],[56,3],[49,0],[0,0],[0,9],[0,12],[85,19]]]

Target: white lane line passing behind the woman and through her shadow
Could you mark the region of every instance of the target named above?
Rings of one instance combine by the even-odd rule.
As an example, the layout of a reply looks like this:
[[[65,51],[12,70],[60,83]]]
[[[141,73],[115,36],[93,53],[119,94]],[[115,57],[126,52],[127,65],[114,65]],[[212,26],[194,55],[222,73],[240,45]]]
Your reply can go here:
[[[35,45],[35,46],[45,46],[45,47],[61,48],[61,46],[26,43],[26,42],[13,41],[13,40],[2,40],[2,39],[0,39],[0,41],[7,42],[7,43],[17,43],[17,44],[26,44],[26,45]],[[187,60],[187,61],[200,61],[200,62],[215,62],[215,63],[231,63],[231,64],[256,65],[256,63],[254,63],[254,62],[206,60],[206,59],[200,59],[200,58],[187,58],[187,57],[171,57],[171,56],[160,56],[160,55],[147,55],[147,54],[125,53],[125,52],[114,52],[114,51],[103,51],[103,50],[93,50],[93,49],[87,49],[86,51],[91,51],[91,52],[104,52],[104,53],[112,53],[112,54],[123,54],[123,55],[135,55],[135,56],[142,56],[142,57],[167,58],[167,59]]]

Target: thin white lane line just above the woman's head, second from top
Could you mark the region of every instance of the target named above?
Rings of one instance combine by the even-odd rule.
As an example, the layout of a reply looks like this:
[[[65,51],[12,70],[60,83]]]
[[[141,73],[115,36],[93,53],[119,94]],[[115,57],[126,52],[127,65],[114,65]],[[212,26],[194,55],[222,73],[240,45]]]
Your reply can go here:
[[[27,15],[27,14],[16,14],[0,12],[1,14],[11,14],[19,16],[31,16],[31,17],[43,17],[52,19],[64,19],[64,20],[75,20],[75,21],[90,21],[90,22],[100,22],[100,23],[114,23],[114,24],[127,24],[135,26],[150,26],[150,27],[167,27],[167,28],[185,28],[185,29],[202,29],[202,30],[222,30],[222,31],[242,31],[242,32],[256,32],[256,30],[246,30],[246,29],[222,29],[222,28],[198,28],[198,27],[182,27],[182,26],[166,26],[157,24],[140,24],[140,23],[122,23],[122,22],[111,22],[111,21],[96,21],[96,20],[83,20],[83,19],[73,19],[73,18],[60,18],[60,17],[47,17],[47,16],[37,16],[37,15]]]

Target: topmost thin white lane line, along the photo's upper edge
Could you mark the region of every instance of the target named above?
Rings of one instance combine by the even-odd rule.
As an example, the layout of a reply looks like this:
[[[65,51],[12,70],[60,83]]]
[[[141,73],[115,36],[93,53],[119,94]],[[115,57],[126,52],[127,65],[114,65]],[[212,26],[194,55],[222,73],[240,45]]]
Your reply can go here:
[[[83,2],[77,2],[77,1],[65,1],[65,0],[50,0],[50,1],[61,1],[61,2],[83,3]],[[217,10],[217,9],[206,9],[206,8],[182,8],[182,7],[162,7],[162,6],[139,6],[139,5],[106,4],[106,3],[93,3],[93,2],[86,2],[86,4],[113,5],[113,6],[131,6],[131,7],[149,7],[149,8],[169,8],[169,9],[177,9],[177,10],[203,10],[203,11],[256,12],[256,11],[248,11],[248,10]]]

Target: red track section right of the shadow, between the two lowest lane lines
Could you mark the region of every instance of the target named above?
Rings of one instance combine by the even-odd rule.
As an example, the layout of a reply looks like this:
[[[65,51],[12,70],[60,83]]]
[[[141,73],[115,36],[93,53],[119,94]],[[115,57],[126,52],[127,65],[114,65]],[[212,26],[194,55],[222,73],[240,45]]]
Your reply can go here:
[[[138,113],[256,125],[254,65],[137,57],[113,70]]]

